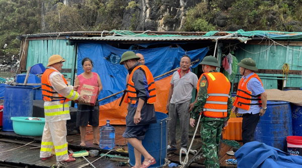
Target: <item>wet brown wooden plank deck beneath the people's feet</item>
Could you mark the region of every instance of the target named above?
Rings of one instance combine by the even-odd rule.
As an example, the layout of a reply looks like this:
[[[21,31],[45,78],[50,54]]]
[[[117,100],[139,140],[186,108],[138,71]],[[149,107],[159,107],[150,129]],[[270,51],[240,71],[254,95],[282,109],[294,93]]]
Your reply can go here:
[[[115,134],[115,148],[118,148],[120,146],[126,145],[125,139],[122,137],[122,134],[125,130],[125,126],[114,126],[116,129]],[[180,132],[180,126],[177,126],[177,132]],[[199,131],[198,131],[199,132]],[[194,128],[190,128],[189,130],[189,144],[191,143],[191,138],[194,133]],[[100,132],[98,132],[100,134]],[[180,135],[177,135],[177,145],[178,149],[176,151],[168,151],[167,157],[171,162],[179,163],[179,151],[180,151]],[[31,141],[35,141],[27,146],[21,147],[24,144],[27,144]],[[108,152],[108,150],[100,149],[98,145],[93,144],[93,133],[91,127],[87,127],[86,131],[86,145],[85,147],[80,146],[81,143],[81,137],[80,135],[68,135],[67,141],[72,141],[68,143],[68,148],[72,149],[73,151],[78,151],[81,149],[91,150],[91,149],[97,149],[101,150],[100,153]],[[41,144],[41,137],[32,137],[32,136],[21,136],[17,135],[14,132],[0,132],[0,165],[9,165],[10,167],[25,167],[26,165],[28,167],[51,167],[53,164],[55,164],[56,159],[55,156],[51,159],[42,161],[39,157],[40,155],[40,148],[31,149],[33,147],[39,147]],[[188,144],[188,145],[189,145]],[[242,144],[242,143],[241,143]],[[10,149],[14,149],[20,147],[15,150],[7,151]],[[124,146],[127,149],[127,146]],[[197,133],[195,136],[194,143],[192,145],[192,149],[199,149],[201,147],[201,141],[200,141],[200,134]],[[220,167],[237,167],[237,165],[230,165],[225,164],[226,159],[235,158],[234,156],[230,156],[226,154],[227,151],[232,151],[233,147],[226,145],[224,143],[220,143],[219,145],[219,163]],[[7,151],[7,152],[3,152]],[[128,156],[127,153],[122,152],[116,152],[112,151],[109,154],[120,154],[123,156]],[[185,156],[182,156],[182,160],[184,160]],[[192,158],[193,155],[189,155],[189,159]],[[98,157],[87,157],[89,161],[94,161]],[[82,164],[87,163],[87,161],[84,158],[76,158],[76,161],[66,163],[63,167],[78,167]],[[102,158],[98,161],[94,162],[93,164],[96,167],[121,167],[116,166],[116,164],[119,161],[116,161],[115,159],[110,158]],[[200,160],[196,160],[193,162],[190,167],[205,167],[203,165],[204,158],[201,158]],[[92,166],[90,166],[92,167]],[[131,167],[129,164],[122,167]],[[168,166],[166,166],[168,167]]]

